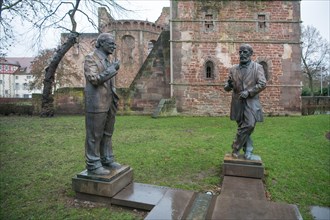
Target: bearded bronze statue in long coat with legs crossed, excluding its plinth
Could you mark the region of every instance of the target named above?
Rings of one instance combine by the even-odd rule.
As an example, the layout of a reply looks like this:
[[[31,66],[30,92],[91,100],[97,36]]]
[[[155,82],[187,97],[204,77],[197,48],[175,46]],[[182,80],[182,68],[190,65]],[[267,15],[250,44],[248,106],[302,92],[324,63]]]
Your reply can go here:
[[[232,156],[238,158],[241,149],[244,158],[253,159],[251,134],[256,122],[263,121],[259,93],[266,87],[263,67],[251,61],[253,49],[248,44],[239,48],[239,65],[230,69],[224,89],[232,92],[230,119],[237,122],[237,134],[232,144]]]

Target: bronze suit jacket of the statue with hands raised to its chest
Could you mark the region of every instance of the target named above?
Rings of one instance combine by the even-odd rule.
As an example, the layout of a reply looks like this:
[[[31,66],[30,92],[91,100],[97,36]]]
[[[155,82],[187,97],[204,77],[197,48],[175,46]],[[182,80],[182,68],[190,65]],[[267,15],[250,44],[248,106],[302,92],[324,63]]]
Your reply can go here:
[[[111,107],[117,108],[119,98],[116,94],[113,78],[109,79],[109,72],[106,71],[109,65],[111,64],[107,57],[102,56],[97,50],[85,57],[86,112],[107,112]]]

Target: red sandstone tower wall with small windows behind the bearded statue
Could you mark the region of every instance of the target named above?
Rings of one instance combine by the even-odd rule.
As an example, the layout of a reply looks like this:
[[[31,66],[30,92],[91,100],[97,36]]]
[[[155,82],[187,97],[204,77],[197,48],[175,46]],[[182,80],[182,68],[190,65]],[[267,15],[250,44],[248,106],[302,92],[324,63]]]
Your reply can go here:
[[[268,87],[261,94],[269,114],[300,112],[299,1],[173,2],[173,84],[178,111],[189,115],[229,113],[230,93],[223,84],[238,63],[238,47],[249,43],[253,60],[268,65]],[[212,14],[213,29],[206,28]],[[258,14],[265,15],[263,31]],[[215,64],[212,79],[205,62]]]

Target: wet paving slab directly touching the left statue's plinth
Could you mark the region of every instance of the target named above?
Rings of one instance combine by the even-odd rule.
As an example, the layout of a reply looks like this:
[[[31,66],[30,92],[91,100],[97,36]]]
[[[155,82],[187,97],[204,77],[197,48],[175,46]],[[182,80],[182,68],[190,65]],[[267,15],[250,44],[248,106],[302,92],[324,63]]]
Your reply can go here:
[[[132,183],[115,195],[111,203],[150,211],[170,188]]]

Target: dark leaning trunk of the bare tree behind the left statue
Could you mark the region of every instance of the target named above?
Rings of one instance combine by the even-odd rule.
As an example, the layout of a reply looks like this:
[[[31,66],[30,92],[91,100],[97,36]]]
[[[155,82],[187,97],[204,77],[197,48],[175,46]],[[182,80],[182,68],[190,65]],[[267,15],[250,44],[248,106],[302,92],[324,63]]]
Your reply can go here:
[[[58,64],[65,56],[66,52],[77,42],[78,33],[69,35],[67,41],[55,52],[50,64],[45,69],[45,79],[43,81],[44,88],[42,91],[41,113],[40,117],[54,116],[54,98],[52,94],[52,86],[55,79],[55,72]]]

